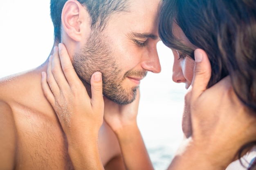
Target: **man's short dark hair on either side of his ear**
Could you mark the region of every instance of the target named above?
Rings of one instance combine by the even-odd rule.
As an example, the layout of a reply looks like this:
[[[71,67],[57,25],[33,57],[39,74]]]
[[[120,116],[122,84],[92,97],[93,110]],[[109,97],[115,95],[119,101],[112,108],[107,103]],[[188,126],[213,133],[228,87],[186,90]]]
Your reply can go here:
[[[127,0],[77,0],[89,12],[92,29],[104,29],[110,15],[115,12],[128,11]],[[51,0],[50,10],[54,25],[54,39],[61,42],[61,13],[67,0]]]

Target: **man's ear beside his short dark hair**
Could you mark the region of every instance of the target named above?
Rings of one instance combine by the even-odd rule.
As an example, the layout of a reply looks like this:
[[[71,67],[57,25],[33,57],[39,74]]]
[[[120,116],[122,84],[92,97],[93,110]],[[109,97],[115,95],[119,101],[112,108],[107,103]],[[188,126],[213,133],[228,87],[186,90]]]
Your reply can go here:
[[[68,0],[65,3],[61,21],[65,33],[74,41],[80,42],[90,33],[90,15],[77,0]]]

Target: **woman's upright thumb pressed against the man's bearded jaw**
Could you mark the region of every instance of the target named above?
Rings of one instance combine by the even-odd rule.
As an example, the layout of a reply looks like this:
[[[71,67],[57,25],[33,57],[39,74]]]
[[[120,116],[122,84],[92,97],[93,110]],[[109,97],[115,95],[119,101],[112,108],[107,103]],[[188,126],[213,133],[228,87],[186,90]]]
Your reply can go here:
[[[95,72],[91,77],[91,91],[92,91],[92,107],[104,106],[102,95],[102,75],[100,72]]]

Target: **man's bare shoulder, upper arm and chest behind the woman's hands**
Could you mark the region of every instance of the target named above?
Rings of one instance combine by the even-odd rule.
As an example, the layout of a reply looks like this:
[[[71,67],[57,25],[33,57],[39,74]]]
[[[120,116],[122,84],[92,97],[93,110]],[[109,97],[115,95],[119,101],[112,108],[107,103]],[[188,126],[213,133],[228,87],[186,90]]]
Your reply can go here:
[[[74,169],[67,137],[41,88],[41,72],[46,67],[1,79],[1,170]],[[121,151],[107,124],[101,126],[99,133],[101,161],[107,168]],[[124,166],[119,163],[118,168]]]

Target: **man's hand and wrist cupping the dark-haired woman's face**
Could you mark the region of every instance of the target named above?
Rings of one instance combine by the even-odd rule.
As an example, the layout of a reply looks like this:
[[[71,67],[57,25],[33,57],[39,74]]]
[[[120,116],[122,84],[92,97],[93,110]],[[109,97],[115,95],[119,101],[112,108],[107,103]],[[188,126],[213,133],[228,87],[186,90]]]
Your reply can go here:
[[[198,60],[200,57],[202,60]],[[256,116],[238,99],[229,77],[207,89],[211,66],[204,51],[195,51],[192,88],[185,96],[185,139],[168,170],[225,170],[238,150],[256,140]]]

